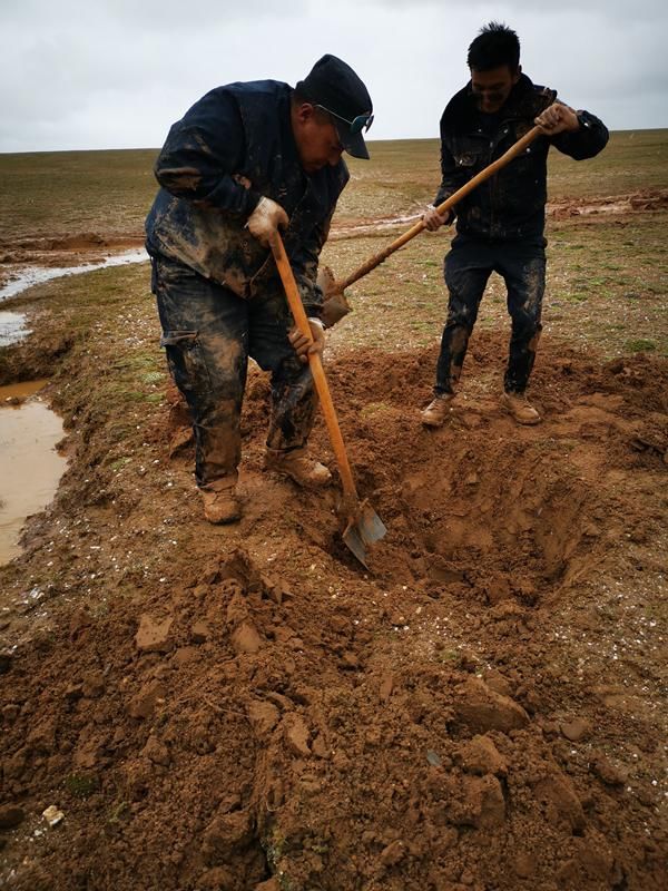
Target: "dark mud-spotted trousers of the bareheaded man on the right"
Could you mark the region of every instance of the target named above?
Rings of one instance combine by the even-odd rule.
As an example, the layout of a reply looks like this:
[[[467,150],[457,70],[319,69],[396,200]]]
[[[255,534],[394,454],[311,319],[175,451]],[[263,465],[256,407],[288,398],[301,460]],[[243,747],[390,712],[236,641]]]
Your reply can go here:
[[[508,312],[512,322],[503,386],[507,393],[523,393],[527,388],[542,329],[544,247],[542,244],[512,242],[489,244],[458,235],[444,263],[450,298],[436,365],[436,395],[454,392],[480,301],[492,272],[505,282]]]

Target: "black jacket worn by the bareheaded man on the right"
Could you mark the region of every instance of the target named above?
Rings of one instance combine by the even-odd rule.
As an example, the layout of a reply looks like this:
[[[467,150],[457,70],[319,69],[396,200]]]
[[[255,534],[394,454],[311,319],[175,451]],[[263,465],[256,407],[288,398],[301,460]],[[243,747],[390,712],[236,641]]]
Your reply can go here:
[[[513,87],[492,126],[478,111],[469,84],[453,96],[441,118],[442,183],[434,205],[445,200],[475,174],[524,136],[557,97],[525,75]],[[553,138],[539,136],[523,154],[478,186],[454,208],[456,231],[484,241],[536,239],[542,243],[550,146],[576,160],[591,158],[608,141],[603,124],[579,111],[580,129]]]

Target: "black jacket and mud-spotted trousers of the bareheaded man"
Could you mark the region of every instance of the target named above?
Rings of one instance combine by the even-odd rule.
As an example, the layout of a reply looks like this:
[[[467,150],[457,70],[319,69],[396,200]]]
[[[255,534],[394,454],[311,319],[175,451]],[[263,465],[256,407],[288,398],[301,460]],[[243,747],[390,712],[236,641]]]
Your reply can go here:
[[[434,205],[503,155],[556,97],[554,90],[534,86],[521,75],[501,111],[492,116],[478,110],[470,85],[460,90],[441,118],[442,182]],[[524,391],[541,331],[548,151],[554,146],[580,160],[597,155],[608,141],[608,130],[597,117],[579,111],[578,118],[578,131],[539,137],[458,204],[458,234],[444,264],[450,298],[436,394],[453,392],[492,272],[505,282],[512,320],[504,388],[507,392]]]

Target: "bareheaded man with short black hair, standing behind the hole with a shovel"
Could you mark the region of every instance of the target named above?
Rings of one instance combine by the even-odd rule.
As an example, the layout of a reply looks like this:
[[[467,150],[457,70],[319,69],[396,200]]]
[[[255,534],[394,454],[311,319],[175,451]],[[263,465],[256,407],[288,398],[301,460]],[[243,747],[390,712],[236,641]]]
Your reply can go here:
[[[504,375],[504,407],[518,423],[536,424],[538,411],[524,394],[541,332],[546,285],[544,208],[550,146],[577,160],[597,155],[608,141],[603,124],[588,111],[556,101],[520,67],[520,42],[510,28],[490,22],[469,47],[471,80],[441,118],[442,183],[434,205],[500,157],[534,124],[540,136],[527,150],[478,186],[456,206],[456,236],[445,257],[448,320],[436,366],[434,399],[422,422],[440,427],[450,410],[478,307],[492,272],[508,290],[512,333]],[[430,207],[426,228],[453,222]]]

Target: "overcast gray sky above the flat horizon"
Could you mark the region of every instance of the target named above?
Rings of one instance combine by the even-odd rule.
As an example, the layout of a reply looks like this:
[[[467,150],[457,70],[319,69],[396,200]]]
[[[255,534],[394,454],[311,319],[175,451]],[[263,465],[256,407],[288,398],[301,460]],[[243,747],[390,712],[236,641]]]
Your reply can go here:
[[[212,87],[294,85],[325,52],[366,82],[370,138],[435,137],[490,19],[610,129],[668,127],[666,0],[0,0],[0,151],[158,147]]]

